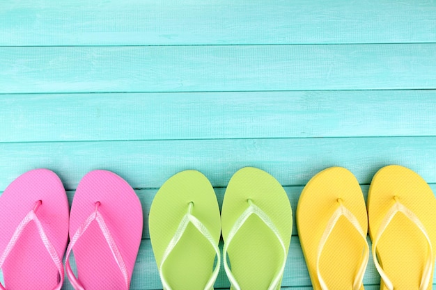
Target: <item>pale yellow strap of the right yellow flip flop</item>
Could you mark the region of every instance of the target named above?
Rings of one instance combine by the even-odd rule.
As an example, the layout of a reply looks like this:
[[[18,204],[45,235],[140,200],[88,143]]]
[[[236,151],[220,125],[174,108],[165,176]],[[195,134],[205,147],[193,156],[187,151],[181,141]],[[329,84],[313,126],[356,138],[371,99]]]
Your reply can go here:
[[[410,209],[405,207],[404,204],[400,203],[397,197],[394,197],[395,203],[394,205],[387,211],[387,214],[384,216],[382,222],[380,223],[380,227],[377,231],[377,235],[375,236],[375,239],[373,241],[373,257],[374,257],[374,264],[375,268],[377,268],[378,273],[380,273],[380,277],[382,277],[382,280],[384,284],[386,285],[387,289],[394,290],[394,284],[392,284],[391,280],[389,280],[389,277],[387,277],[387,274],[384,273],[382,267],[380,266],[377,255],[376,255],[376,248],[377,243],[380,240],[380,237],[384,233],[384,231],[387,229],[389,223],[391,223],[391,220],[394,218],[396,214],[399,212],[404,214],[407,218],[409,218],[412,223],[418,227],[423,235],[426,237],[427,243],[428,243],[428,257],[426,261],[426,266],[423,270],[423,275],[421,277],[421,284],[419,285],[419,290],[427,289],[428,283],[430,282],[431,274],[433,273],[433,248],[431,245],[430,237],[428,236],[426,232],[426,227],[421,223],[421,220],[419,220],[418,216],[416,216]]]

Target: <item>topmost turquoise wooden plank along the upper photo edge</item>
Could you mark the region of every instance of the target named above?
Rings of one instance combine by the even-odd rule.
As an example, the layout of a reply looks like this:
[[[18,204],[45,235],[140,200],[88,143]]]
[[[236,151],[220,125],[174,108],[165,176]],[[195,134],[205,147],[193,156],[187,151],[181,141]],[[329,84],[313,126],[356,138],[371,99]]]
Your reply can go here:
[[[435,40],[436,4],[426,0],[0,3],[0,45],[286,45]]]

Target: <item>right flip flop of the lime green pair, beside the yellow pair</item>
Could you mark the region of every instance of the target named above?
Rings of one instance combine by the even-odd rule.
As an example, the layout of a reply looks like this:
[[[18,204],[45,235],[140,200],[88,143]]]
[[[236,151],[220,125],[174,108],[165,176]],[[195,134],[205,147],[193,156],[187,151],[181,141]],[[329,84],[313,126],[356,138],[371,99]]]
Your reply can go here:
[[[288,196],[274,177],[252,167],[233,175],[221,211],[224,269],[231,289],[280,289],[292,220]]]

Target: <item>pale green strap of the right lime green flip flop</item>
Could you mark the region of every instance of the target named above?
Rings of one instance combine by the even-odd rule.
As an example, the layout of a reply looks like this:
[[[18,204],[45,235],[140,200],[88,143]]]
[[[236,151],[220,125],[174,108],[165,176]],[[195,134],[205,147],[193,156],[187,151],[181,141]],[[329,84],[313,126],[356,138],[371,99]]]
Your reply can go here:
[[[233,274],[231,272],[230,267],[228,266],[227,249],[228,249],[228,246],[231,244],[233,237],[239,231],[239,229],[242,227],[242,225],[244,225],[244,223],[247,221],[247,219],[251,215],[255,214],[256,216],[258,216],[260,218],[260,220],[263,221],[263,223],[265,223],[265,225],[267,225],[267,227],[269,227],[271,229],[271,232],[273,232],[274,235],[277,237],[277,240],[279,240],[279,243],[280,243],[281,248],[283,250],[283,261],[281,262],[280,269],[277,272],[277,274],[274,276],[270,286],[268,287],[268,290],[273,290],[279,286],[281,276],[283,275],[283,271],[285,270],[286,258],[287,258],[286,246],[283,243],[283,239],[281,239],[279,229],[277,229],[277,227],[274,225],[271,218],[269,216],[267,216],[267,214],[265,214],[265,212],[262,209],[257,207],[256,204],[254,204],[252,200],[247,200],[247,202],[249,204],[249,207],[240,215],[238,220],[235,221],[235,224],[233,225],[230,232],[228,233],[228,236],[226,239],[227,242],[224,243],[224,250],[223,250],[224,269],[226,270],[228,280],[231,282],[233,289],[240,290],[241,287],[239,286],[238,282],[236,281],[236,278],[233,276]]]

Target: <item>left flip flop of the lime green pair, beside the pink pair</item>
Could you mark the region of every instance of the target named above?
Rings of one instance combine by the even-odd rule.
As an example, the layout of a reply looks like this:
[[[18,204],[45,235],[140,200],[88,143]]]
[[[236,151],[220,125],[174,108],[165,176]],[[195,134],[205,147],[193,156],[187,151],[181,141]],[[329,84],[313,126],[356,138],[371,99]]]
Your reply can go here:
[[[201,172],[185,170],[162,185],[149,228],[163,289],[212,289],[221,264],[221,223],[215,191]]]

